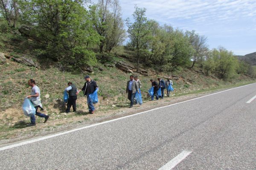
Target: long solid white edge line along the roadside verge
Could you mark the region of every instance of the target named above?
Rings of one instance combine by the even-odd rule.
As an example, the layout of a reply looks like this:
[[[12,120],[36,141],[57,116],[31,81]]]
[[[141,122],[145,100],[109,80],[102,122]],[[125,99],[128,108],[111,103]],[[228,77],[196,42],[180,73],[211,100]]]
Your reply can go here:
[[[256,83],[252,83],[252,84],[249,84],[249,85],[254,85],[254,84],[256,84]],[[236,87],[236,88],[241,88],[241,87],[245,87],[245,86],[248,86],[248,85],[243,85],[243,86]],[[227,89],[227,90],[224,90],[224,91],[219,91],[219,92],[217,92],[217,93],[208,94],[208,95],[206,95],[206,96],[201,96],[201,97],[197,97],[197,98],[194,98],[194,99],[185,100],[185,101],[183,101],[183,102],[174,103],[174,104],[172,104],[172,105],[167,105],[167,106],[163,106],[163,107],[160,107],[160,108],[154,108],[154,109],[151,109],[151,110],[149,110],[149,111],[154,111],[154,110],[157,110],[157,109],[166,108],[166,107],[173,106],[173,105],[177,105],[177,104],[180,104],[180,103],[189,102],[189,101],[196,100],[196,99],[201,99],[201,98],[203,98],[203,97],[212,96],[212,95],[219,94],[219,93],[223,93],[223,92],[225,92],[225,91],[230,91],[230,90],[233,90],[233,89],[236,89],[236,88],[230,88],[230,89]],[[33,143],[33,142],[42,141],[42,140],[49,139],[49,138],[53,138],[53,137],[56,137],[56,136],[61,136],[61,135],[64,135],[64,134],[67,134],[67,133],[72,133],[72,132],[75,132],[75,131],[78,131],[78,130],[87,129],[87,128],[89,128],[89,127],[94,127],[94,126],[98,126],[98,125],[103,125],[103,124],[106,124],[106,123],[109,123],[109,122],[114,122],[114,121],[117,121],[117,120],[120,120],[120,119],[125,119],[125,118],[131,117],[131,116],[136,116],[136,115],[139,115],[139,114],[142,114],[142,113],[146,113],[146,112],[149,112],[149,111],[143,111],[143,112],[135,113],[135,114],[128,115],[128,116],[119,117],[119,118],[117,118],[117,119],[108,120],[108,121],[106,121],[106,122],[96,123],[96,124],[93,124],[93,125],[84,126],[84,127],[79,127],[79,128],[77,128],[77,129],[68,130],[68,131],[61,132],[61,133],[55,133],[55,134],[52,134],[52,135],[49,135],[49,136],[43,136],[43,137],[36,138],[36,139],[29,139],[29,140],[26,140],[26,141],[24,141],[24,142],[18,142],[18,143],[15,143],[15,144],[10,144],[10,145],[4,146],[4,147],[0,147],[0,151],[1,151],[1,150],[6,150],[6,149],[10,149],[10,148],[12,148],[12,147],[22,146],[22,145],[24,145],[24,144],[30,144],[30,143]]]

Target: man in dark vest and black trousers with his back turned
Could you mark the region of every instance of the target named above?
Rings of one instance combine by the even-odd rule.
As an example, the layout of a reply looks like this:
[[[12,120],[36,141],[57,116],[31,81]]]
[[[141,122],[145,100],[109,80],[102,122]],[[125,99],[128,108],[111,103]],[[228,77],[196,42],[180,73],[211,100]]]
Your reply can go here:
[[[76,92],[77,92],[77,89],[76,89],[76,86],[73,85],[72,82],[68,82],[67,85],[68,85],[68,87],[65,88],[65,91],[68,92],[68,101],[67,101],[66,113],[70,112],[71,106],[73,107],[73,112],[75,112],[76,111],[76,99],[77,99]]]

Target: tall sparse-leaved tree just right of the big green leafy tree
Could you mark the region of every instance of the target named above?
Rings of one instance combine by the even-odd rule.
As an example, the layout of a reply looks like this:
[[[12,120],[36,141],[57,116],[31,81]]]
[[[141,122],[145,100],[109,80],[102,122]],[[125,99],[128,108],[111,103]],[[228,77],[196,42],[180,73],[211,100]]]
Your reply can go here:
[[[99,0],[91,7],[93,27],[101,36],[99,51],[110,52],[124,41],[125,29],[119,0]]]

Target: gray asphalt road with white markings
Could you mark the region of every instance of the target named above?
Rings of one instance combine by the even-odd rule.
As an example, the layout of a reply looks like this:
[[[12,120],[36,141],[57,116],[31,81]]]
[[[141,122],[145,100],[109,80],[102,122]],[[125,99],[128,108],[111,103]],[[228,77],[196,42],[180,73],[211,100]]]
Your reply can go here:
[[[2,147],[0,170],[256,170],[255,95],[247,85]]]

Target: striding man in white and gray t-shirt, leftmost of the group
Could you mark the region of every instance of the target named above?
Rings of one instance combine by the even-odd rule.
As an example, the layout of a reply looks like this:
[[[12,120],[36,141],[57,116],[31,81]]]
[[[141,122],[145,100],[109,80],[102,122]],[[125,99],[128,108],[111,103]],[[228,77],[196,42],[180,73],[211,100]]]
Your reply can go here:
[[[27,98],[29,98],[35,106],[35,115],[39,117],[44,117],[44,123],[45,123],[49,119],[49,116],[38,112],[38,108],[43,108],[41,104],[41,99],[40,99],[40,89],[38,88],[38,86],[35,85],[34,79],[29,79],[28,85],[32,87],[32,91],[31,91],[31,95],[27,96]],[[31,123],[27,125],[27,127],[35,126],[35,115],[30,116]]]

